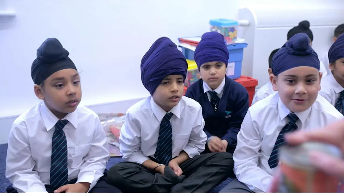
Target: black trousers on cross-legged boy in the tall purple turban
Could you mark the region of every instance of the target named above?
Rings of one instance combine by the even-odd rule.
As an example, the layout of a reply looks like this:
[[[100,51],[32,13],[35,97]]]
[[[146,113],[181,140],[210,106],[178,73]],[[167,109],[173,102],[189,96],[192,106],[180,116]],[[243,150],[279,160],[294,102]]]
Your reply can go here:
[[[135,162],[116,163],[107,182],[122,192],[209,192],[228,177],[234,177],[234,161],[227,152],[197,155],[179,165],[185,179],[174,184],[160,173]]]

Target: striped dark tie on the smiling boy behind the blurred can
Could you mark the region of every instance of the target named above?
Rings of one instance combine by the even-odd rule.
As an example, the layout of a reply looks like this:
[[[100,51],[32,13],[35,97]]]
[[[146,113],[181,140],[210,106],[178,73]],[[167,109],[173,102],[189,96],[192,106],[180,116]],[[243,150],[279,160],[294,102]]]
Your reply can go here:
[[[270,158],[268,160],[270,168],[275,168],[278,166],[278,148],[280,145],[284,144],[284,134],[293,132],[294,130],[298,129],[298,126],[295,124],[299,117],[294,113],[290,113],[287,115],[289,122],[282,128],[281,132],[279,133],[275,146],[272,149]]]

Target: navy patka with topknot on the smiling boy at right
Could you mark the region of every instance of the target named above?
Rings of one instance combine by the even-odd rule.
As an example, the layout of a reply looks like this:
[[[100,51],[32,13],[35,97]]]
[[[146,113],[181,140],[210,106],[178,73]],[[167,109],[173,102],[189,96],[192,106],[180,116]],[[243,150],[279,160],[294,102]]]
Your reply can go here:
[[[309,66],[319,70],[318,55],[309,43],[309,37],[305,33],[292,36],[272,57],[272,73],[277,76],[281,72],[299,66]]]

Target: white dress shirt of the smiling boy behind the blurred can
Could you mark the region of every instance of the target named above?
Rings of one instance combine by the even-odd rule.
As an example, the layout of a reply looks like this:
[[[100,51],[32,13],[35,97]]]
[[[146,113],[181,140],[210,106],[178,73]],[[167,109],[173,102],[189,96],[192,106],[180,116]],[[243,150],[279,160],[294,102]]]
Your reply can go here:
[[[273,180],[275,168],[270,169],[268,160],[280,131],[288,123],[289,113],[275,92],[249,107],[241,124],[233,154],[234,172],[253,192],[267,192]],[[305,130],[318,129],[343,118],[320,95],[308,110],[295,114],[299,117],[298,128]]]

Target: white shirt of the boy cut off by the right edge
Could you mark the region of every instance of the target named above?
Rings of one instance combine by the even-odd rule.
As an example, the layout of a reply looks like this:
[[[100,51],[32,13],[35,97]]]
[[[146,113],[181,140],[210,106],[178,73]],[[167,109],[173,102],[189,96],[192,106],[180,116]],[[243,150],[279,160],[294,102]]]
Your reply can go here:
[[[334,79],[332,73],[322,78],[320,85],[321,90],[319,94],[334,106],[344,88]]]

